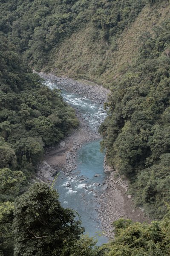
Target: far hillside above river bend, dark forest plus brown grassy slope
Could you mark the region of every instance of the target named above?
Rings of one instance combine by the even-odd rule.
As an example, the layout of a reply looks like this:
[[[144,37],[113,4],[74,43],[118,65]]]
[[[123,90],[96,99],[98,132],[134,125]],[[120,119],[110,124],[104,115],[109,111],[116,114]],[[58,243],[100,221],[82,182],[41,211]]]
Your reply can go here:
[[[146,32],[170,18],[167,0],[3,0],[0,30],[35,70],[112,86]]]

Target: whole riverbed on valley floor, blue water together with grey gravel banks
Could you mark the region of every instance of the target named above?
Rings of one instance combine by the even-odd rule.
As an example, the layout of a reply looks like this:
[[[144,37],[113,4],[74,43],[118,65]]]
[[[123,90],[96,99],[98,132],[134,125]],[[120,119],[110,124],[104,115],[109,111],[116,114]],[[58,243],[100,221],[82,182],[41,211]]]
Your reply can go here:
[[[114,178],[118,173],[112,169],[104,173],[104,153],[100,152],[98,128],[107,116],[103,104],[109,90],[92,82],[45,73],[40,76],[51,89],[61,90],[64,101],[75,108],[80,122],[79,128],[60,145],[47,150],[45,161],[60,172],[55,188],[61,204],[81,215],[85,232],[96,236],[101,245],[114,237],[113,221],[121,217],[141,222],[147,220],[128,198],[126,180]],[[114,186],[110,179],[117,180]]]

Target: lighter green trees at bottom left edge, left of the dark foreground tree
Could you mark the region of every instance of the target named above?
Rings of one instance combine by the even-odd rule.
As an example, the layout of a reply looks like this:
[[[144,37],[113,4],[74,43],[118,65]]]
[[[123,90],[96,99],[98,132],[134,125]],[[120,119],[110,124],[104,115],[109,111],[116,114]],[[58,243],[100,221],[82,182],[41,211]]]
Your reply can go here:
[[[20,171],[0,169],[0,253],[4,256],[13,255],[12,201],[18,195],[23,180],[24,176]]]

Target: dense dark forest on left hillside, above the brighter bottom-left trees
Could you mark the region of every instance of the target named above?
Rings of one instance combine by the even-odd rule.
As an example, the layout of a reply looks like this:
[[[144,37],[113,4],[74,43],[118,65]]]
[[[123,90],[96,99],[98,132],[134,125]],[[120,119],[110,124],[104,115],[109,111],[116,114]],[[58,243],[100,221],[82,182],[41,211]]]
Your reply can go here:
[[[23,157],[22,167],[32,168],[43,157],[44,146],[57,143],[78,120],[60,92],[42,84],[6,38],[0,39],[0,168],[20,168]]]

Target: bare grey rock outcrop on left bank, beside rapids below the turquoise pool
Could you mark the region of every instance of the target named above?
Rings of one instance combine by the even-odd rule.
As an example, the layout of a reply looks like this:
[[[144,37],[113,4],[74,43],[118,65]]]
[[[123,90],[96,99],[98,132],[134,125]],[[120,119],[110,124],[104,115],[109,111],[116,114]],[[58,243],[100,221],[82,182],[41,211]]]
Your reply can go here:
[[[37,177],[47,183],[52,183],[57,170],[53,169],[46,161],[43,161],[38,168]]]

